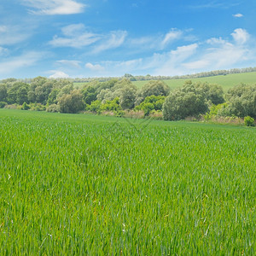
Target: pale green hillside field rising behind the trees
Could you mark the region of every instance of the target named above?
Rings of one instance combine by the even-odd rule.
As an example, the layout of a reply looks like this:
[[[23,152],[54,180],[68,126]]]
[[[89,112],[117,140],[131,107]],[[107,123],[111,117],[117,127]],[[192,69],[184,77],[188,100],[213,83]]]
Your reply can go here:
[[[193,82],[208,82],[210,84],[219,84],[224,88],[224,91],[236,86],[237,84],[256,84],[256,72],[252,73],[234,73],[225,76],[214,76],[201,79],[167,79],[163,80],[170,86],[171,89],[181,87],[185,81],[192,80]],[[135,81],[133,82],[138,88],[141,88],[143,84],[148,81]],[[81,87],[84,83],[75,83],[75,86]]]

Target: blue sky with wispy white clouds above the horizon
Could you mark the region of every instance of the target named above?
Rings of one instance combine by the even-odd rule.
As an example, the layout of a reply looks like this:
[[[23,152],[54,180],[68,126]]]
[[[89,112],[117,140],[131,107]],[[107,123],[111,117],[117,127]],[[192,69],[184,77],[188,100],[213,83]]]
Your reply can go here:
[[[0,79],[256,66],[256,1],[2,0]]]

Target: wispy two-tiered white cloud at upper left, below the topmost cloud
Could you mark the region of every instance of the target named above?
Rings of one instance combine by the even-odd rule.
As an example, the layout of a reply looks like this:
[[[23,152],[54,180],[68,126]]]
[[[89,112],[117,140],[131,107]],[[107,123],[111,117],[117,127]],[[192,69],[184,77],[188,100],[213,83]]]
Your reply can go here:
[[[65,37],[55,36],[53,40],[49,42],[54,47],[73,47],[81,48],[94,44],[100,39],[99,35],[86,32],[83,24],[73,24],[65,26],[61,29]]]

